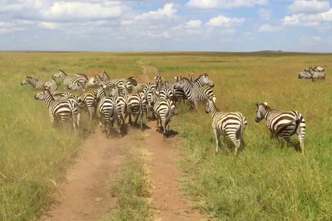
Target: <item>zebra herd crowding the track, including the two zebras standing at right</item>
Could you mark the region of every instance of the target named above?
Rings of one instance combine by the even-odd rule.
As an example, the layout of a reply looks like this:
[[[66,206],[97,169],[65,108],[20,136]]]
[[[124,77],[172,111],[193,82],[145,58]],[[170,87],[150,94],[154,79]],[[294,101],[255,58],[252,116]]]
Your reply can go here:
[[[311,67],[310,67],[311,68]],[[313,76],[313,75],[312,75]],[[62,79],[66,90],[57,90],[56,78]],[[218,152],[219,138],[227,135],[234,144],[234,153],[243,146],[243,131],[246,129],[247,120],[242,113],[223,113],[216,107],[216,96],[212,88],[214,82],[208,74],[202,73],[199,77],[194,72],[187,77],[174,77],[176,81],[164,81],[162,77],[154,77],[154,83],[138,83],[134,77],[110,79],[103,70],[94,77],[84,74],[75,74],[69,77],[62,70],[47,80],[38,80],[26,77],[21,85],[31,84],[34,88],[42,90],[35,95],[35,99],[42,100],[48,106],[50,121],[61,121],[64,128],[71,119],[73,127],[80,127],[80,117],[84,106],[88,109],[90,119],[98,114],[100,126],[104,126],[103,132],[110,135],[111,127],[116,124],[118,135],[127,133],[125,124],[132,124],[131,115],[135,118],[135,124],[145,115],[156,118],[157,131],[163,130],[163,137],[168,136],[169,126],[176,108],[181,102],[188,102],[194,111],[198,111],[198,104],[205,104],[205,113],[212,116],[212,129]],[[88,90],[97,88],[97,90]],[[69,90],[76,90],[78,95],[72,95]],[[281,112],[271,109],[267,102],[256,103],[256,119],[258,123],[266,119],[272,137],[283,137],[287,144],[291,144],[291,136],[297,133],[302,153],[304,151],[304,135],[306,123],[304,117],[298,111]]]

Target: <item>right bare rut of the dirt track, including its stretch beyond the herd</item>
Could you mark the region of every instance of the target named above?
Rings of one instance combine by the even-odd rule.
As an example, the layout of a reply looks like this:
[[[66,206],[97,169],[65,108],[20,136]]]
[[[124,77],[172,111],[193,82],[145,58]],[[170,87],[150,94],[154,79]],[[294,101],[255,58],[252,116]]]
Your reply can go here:
[[[147,65],[140,61],[142,66],[142,82],[151,82],[147,75]],[[154,70],[154,75],[159,76],[158,70],[149,66]],[[161,220],[208,220],[198,211],[191,209],[190,202],[178,189],[178,179],[181,172],[178,170],[177,162],[181,157],[174,146],[178,144],[176,137],[163,139],[163,134],[156,132],[156,121],[149,122],[151,128],[145,133],[147,136],[142,146],[145,146],[151,154],[149,169],[151,171],[151,182],[153,185],[152,198],[158,209],[157,217]],[[172,130],[172,125],[171,125]],[[176,133],[172,131],[174,135]]]

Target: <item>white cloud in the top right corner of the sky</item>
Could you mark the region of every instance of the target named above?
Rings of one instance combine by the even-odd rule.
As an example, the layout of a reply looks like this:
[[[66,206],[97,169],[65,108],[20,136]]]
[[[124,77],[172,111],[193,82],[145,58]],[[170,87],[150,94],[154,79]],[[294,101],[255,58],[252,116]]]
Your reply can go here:
[[[295,0],[291,6],[288,6],[288,10],[295,14],[327,12],[329,9],[329,1],[320,0]]]

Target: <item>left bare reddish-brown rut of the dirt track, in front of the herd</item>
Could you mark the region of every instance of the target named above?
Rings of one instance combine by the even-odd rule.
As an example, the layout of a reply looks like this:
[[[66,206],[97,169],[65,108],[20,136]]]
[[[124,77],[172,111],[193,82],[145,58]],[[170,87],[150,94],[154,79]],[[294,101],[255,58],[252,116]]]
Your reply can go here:
[[[104,209],[116,204],[106,184],[117,172],[131,139],[107,139],[98,126],[82,146],[79,162],[70,169],[70,181],[62,189],[64,199],[46,220],[98,220]]]

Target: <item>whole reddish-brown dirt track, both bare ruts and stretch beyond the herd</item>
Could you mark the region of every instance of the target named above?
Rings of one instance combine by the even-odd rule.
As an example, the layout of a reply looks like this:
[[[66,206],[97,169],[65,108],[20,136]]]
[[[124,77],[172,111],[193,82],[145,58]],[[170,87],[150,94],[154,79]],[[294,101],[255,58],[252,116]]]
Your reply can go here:
[[[152,82],[147,75],[147,66],[142,61],[138,65],[142,68],[140,80]],[[151,68],[158,75],[158,70]],[[106,184],[111,180],[110,176],[117,173],[126,150],[138,142],[151,157],[149,169],[154,186],[151,193],[158,209],[157,220],[208,220],[190,208],[190,202],[178,189],[177,180],[181,172],[176,162],[181,158],[174,148],[178,144],[176,136],[163,139],[163,135],[156,132],[155,121],[147,126],[149,129],[145,130],[145,140],[142,141],[133,139],[133,135],[138,133],[135,129],[129,130],[129,134],[122,138],[107,139],[100,128],[96,128],[82,147],[80,162],[71,169],[72,179],[62,189],[64,200],[50,213],[49,220],[98,220],[104,209],[115,206],[116,198],[111,197]]]

